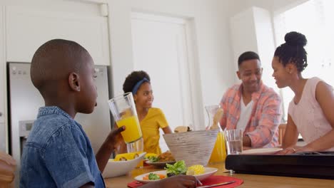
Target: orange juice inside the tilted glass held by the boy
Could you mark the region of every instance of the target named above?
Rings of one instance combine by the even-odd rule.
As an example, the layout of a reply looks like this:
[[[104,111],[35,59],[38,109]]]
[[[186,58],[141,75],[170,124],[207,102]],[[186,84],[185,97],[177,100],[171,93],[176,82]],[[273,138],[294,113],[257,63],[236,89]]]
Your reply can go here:
[[[143,135],[141,134],[141,127],[136,116],[126,117],[122,120],[118,120],[117,126],[126,126],[126,130],[121,132],[124,142],[131,143],[140,139]]]

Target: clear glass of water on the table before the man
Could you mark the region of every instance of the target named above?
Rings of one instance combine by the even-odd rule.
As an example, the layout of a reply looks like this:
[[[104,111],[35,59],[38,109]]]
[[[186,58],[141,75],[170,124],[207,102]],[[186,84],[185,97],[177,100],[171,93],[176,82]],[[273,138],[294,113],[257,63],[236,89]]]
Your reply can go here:
[[[228,155],[238,155],[243,151],[243,130],[225,130],[226,150]]]

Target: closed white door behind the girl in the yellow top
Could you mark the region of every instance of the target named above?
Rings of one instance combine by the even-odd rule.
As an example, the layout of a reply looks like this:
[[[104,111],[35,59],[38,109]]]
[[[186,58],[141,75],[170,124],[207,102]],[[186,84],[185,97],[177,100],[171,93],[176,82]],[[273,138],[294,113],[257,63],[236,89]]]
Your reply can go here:
[[[138,13],[131,21],[134,69],[150,75],[153,106],[163,110],[171,130],[193,125],[185,23]],[[160,142],[161,150],[168,150],[162,138]]]

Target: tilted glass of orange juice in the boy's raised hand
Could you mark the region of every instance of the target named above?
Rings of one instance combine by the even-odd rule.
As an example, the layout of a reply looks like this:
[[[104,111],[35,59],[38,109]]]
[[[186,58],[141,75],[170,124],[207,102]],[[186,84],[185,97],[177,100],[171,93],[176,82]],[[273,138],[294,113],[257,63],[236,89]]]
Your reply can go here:
[[[126,130],[121,132],[126,144],[136,142],[143,137],[141,126],[139,125],[136,105],[131,92],[118,95],[108,101],[109,108],[113,114],[113,119],[118,127],[126,126]]]

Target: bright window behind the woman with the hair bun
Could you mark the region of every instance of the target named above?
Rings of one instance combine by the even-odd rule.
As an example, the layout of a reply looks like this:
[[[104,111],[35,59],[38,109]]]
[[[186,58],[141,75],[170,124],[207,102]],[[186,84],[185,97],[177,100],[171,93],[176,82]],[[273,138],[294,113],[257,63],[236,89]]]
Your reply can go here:
[[[310,0],[293,9],[274,16],[275,41],[284,43],[285,33],[298,31],[308,39],[305,50],[308,52],[308,67],[303,71],[304,78],[317,76],[334,85],[334,1]],[[281,90],[284,106],[284,119],[288,117],[288,105],[294,93],[290,88]]]

